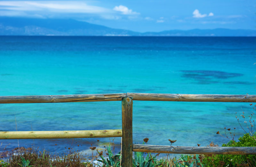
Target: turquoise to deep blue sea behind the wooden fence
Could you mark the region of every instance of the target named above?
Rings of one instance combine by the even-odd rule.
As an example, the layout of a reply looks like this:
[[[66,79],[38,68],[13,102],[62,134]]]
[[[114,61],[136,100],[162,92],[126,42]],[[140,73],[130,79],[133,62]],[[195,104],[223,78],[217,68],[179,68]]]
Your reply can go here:
[[[28,37],[0,36],[0,95],[96,93],[256,94],[255,37]],[[206,146],[228,139],[235,113],[249,103],[133,101],[133,142]],[[121,129],[121,101],[1,104],[1,131]],[[245,126],[244,126],[245,127]],[[233,132],[233,131],[232,131]],[[19,140],[20,146],[62,152],[108,138]],[[114,140],[117,144],[121,138]],[[0,140],[6,149],[17,140]],[[55,145],[57,144],[57,146]],[[82,146],[81,146],[82,145]],[[118,148],[117,148],[118,149]]]

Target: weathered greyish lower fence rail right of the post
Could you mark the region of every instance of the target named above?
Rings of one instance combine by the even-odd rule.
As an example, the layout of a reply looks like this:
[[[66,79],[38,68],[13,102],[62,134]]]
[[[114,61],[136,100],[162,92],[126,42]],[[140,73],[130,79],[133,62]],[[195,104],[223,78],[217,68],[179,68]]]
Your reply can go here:
[[[256,154],[256,147],[188,147],[133,144],[135,152],[170,154]]]

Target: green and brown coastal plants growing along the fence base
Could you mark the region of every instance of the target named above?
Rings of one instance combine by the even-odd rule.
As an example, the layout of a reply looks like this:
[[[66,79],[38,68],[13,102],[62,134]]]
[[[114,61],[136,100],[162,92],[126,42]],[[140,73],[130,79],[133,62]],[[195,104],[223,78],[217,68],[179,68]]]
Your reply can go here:
[[[256,138],[256,133],[253,135]],[[238,142],[231,140],[223,147],[255,147],[256,140],[249,134],[244,134]],[[143,143],[144,144],[144,143]],[[112,145],[114,145],[112,143]],[[213,143],[210,146],[217,146]],[[113,146],[114,147],[114,146]],[[90,147],[93,150],[96,147]],[[121,152],[114,155],[110,144],[106,155],[96,149],[97,155],[86,159],[78,151],[72,149],[68,153],[52,154],[45,150],[33,148],[16,150],[9,159],[0,161],[0,167],[119,167]],[[256,166],[256,155],[181,155],[180,158],[157,158],[159,154],[134,152],[133,167],[235,167]],[[93,153],[92,153],[93,155]],[[97,160],[98,163],[95,162]]]

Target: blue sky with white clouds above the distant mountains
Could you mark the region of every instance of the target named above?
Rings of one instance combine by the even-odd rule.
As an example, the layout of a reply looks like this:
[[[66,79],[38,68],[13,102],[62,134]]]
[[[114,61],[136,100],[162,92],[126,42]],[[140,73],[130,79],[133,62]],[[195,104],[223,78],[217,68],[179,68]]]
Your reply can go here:
[[[0,1],[0,16],[71,18],[137,32],[195,28],[256,30],[256,1]]]

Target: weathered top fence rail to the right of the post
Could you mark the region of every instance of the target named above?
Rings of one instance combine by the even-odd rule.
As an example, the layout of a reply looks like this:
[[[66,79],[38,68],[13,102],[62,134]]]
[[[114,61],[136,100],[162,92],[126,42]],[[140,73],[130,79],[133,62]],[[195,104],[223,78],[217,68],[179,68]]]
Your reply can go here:
[[[144,101],[256,102],[256,95],[127,93],[127,97]]]

